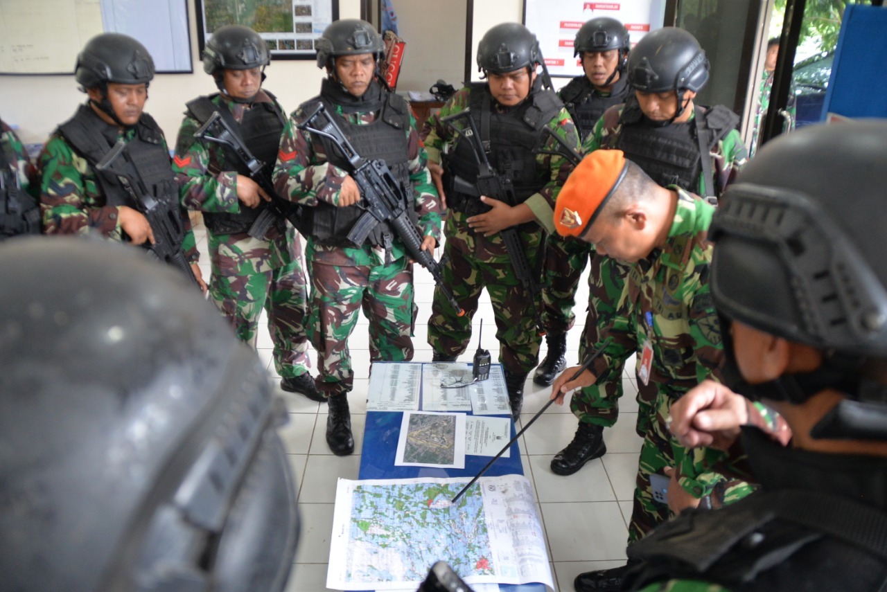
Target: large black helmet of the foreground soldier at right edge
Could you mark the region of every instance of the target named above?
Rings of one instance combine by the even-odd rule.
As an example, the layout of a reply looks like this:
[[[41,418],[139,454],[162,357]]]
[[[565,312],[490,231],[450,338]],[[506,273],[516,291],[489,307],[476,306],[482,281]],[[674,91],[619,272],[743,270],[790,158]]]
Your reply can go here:
[[[884,153],[885,121],[810,126],[779,136],[727,188],[709,231],[717,243],[711,292],[718,311],[826,352],[823,369],[783,377],[778,388],[759,396],[797,403],[835,387],[868,400],[859,405],[870,409],[848,414],[852,405],[844,407],[844,429],[850,429],[844,437],[875,433],[887,439],[883,386],[879,394],[845,382],[859,379],[861,359],[887,359]],[[858,423],[847,428],[848,417]]]

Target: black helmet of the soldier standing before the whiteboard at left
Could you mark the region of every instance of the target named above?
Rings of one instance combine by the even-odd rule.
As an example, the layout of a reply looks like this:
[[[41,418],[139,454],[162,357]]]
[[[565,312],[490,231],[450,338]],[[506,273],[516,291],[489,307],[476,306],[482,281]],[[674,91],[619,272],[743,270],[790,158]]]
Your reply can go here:
[[[129,35],[102,33],[77,56],[74,75],[84,91],[104,91],[108,82],[147,84],[154,77],[154,61],[145,46]]]

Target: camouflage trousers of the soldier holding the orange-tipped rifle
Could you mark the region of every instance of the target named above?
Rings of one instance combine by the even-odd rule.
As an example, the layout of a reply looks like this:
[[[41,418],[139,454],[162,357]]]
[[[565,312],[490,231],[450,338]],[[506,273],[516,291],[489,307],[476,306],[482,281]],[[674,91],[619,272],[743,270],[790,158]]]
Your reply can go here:
[[[412,264],[406,257],[388,265],[329,265],[310,260],[309,338],[318,350],[318,390],[348,393],[354,371],[348,339],[364,311],[369,320],[370,360],[412,360],[416,305]]]

